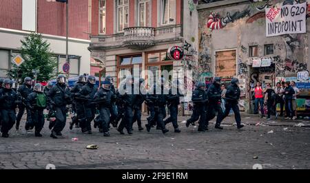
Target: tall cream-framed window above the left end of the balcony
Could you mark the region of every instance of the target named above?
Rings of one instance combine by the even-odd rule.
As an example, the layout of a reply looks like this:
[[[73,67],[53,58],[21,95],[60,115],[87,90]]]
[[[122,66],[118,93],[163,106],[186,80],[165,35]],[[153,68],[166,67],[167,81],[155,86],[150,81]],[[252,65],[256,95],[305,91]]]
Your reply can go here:
[[[128,28],[129,25],[129,0],[118,0],[117,1],[117,17],[118,17],[118,32]]]

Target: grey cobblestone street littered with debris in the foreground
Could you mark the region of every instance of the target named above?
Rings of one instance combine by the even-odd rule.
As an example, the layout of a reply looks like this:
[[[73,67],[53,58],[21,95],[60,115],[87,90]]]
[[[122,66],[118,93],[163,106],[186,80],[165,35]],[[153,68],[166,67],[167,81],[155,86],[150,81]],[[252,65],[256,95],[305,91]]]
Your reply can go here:
[[[47,164],[56,169],[252,169],[254,164],[263,169],[310,169],[309,120],[267,122],[251,115],[242,120],[246,127],[237,130],[231,125],[234,116],[227,118],[223,131],[214,129],[213,120],[205,133],[181,122],[182,132],[174,133],[169,124],[166,135],[156,128],[138,132],[134,124],[134,135],[111,129],[108,138],[97,129],[92,135],[70,131],[68,120],[63,137],[56,140],[50,138],[48,122],[43,138],[27,133],[21,122],[19,132],[13,127],[10,138],[0,138],[0,169],[45,169]],[[88,150],[87,144],[99,149]]]

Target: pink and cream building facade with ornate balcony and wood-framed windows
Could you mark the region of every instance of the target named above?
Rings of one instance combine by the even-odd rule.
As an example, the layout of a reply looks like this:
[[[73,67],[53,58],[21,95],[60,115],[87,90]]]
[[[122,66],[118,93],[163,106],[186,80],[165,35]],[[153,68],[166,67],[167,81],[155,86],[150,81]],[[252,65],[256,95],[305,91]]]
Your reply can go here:
[[[148,83],[156,73],[185,69],[197,59],[198,19],[196,4],[183,0],[95,1],[89,50],[102,63],[105,75],[116,84],[134,67]],[[95,8],[97,7],[97,8]],[[185,47],[187,61],[172,61],[169,47]],[[154,77],[143,71],[150,70]]]

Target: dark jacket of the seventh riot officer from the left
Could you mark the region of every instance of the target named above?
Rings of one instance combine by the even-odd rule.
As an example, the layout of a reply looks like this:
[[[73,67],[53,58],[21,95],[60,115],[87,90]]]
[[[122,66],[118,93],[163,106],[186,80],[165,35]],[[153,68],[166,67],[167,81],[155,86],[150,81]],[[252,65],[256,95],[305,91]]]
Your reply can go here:
[[[94,103],[101,107],[112,107],[112,103],[115,101],[115,94],[111,90],[101,87],[94,96]]]

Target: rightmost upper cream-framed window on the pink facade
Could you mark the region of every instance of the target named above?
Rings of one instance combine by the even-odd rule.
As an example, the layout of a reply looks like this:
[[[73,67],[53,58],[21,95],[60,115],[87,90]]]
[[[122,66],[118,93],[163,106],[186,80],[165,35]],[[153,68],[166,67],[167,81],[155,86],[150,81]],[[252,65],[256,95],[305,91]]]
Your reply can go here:
[[[174,23],[176,17],[176,1],[162,0],[161,1],[161,23],[163,25]]]

